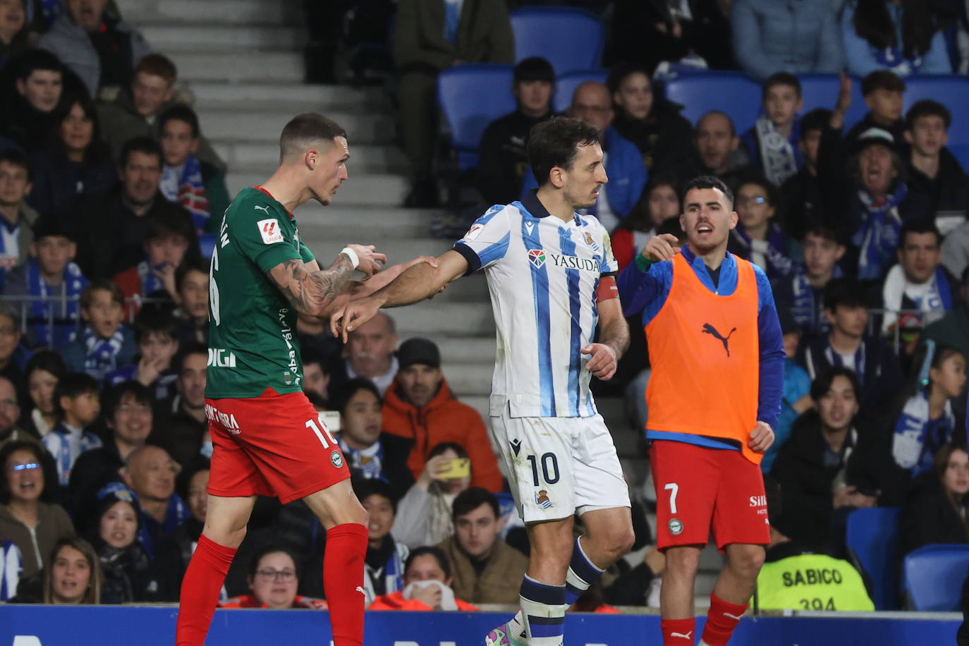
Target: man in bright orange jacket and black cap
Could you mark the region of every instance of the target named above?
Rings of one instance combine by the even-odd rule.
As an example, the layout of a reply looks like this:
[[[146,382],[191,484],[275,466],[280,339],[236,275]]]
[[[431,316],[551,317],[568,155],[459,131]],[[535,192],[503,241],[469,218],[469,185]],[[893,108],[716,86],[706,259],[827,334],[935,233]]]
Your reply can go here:
[[[397,351],[399,369],[384,397],[384,430],[414,440],[407,466],[421,476],[430,449],[463,446],[471,458],[471,486],[502,489],[501,472],[482,416],[454,398],[441,372],[441,352],[427,339],[408,339]]]

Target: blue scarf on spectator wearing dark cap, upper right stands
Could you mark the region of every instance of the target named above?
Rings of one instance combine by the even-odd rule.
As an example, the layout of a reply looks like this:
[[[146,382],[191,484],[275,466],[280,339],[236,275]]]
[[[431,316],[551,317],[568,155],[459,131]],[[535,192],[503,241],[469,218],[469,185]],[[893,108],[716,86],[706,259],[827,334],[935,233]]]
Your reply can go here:
[[[859,248],[858,277],[877,280],[895,259],[902,219],[898,204],[908,195],[908,187],[899,182],[895,192],[881,204],[874,203],[866,191],[859,191],[865,215],[859,230],[852,236],[852,244]]]

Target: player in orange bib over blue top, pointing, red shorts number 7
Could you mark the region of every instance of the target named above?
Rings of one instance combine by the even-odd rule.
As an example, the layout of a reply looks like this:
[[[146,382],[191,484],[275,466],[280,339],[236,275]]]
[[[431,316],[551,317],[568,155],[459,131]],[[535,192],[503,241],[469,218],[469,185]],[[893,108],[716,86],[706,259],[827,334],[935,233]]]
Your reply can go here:
[[[651,238],[619,275],[626,316],[642,313],[652,373],[646,439],[656,484],[664,646],[694,643],[694,582],[710,534],[727,564],[701,646],[725,646],[754,592],[770,539],[760,463],[780,414],[784,348],[764,271],[727,252],[734,196],[686,186],[676,237]]]

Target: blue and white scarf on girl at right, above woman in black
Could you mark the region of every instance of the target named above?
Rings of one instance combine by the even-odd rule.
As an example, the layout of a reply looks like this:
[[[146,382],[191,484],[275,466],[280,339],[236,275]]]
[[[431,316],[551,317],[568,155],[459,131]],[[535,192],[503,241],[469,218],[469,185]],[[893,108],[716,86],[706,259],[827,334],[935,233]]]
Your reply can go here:
[[[928,396],[920,392],[905,402],[895,422],[891,455],[899,467],[916,477],[932,468],[936,451],[953,439],[954,429],[953,403],[947,401],[942,416],[929,419]]]

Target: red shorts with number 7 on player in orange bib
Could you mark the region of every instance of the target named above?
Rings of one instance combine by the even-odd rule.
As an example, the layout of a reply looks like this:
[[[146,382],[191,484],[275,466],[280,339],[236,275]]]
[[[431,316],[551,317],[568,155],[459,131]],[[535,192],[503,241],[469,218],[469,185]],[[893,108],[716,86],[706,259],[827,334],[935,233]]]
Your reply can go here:
[[[767,544],[770,525],[761,468],[738,450],[655,440],[656,546]]]

